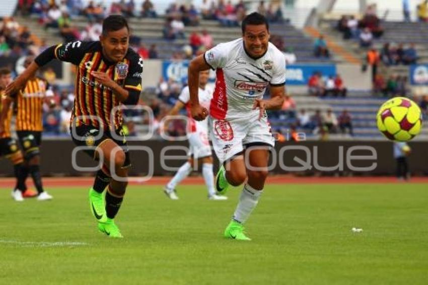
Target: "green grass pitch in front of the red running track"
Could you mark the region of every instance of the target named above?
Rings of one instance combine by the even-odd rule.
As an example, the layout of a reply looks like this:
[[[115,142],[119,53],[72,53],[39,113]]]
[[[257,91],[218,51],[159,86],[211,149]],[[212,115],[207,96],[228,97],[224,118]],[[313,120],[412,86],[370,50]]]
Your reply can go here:
[[[161,187],[129,187],[116,218],[122,240],[97,231],[86,188],[48,188],[54,200],[23,203],[2,190],[2,284],[426,284],[428,278],[426,184],[270,185],[247,223],[251,242],[222,236],[239,189],[228,201],[208,201],[204,186],[180,186],[180,200],[171,201]]]

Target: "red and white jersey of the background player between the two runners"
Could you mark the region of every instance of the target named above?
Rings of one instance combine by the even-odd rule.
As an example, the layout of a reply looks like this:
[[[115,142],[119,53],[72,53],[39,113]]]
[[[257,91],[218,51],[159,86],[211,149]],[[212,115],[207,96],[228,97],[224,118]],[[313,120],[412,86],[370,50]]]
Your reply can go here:
[[[205,89],[201,89],[199,87],[198,89],[198,96],[199,96],[199,104],[202,107],[205,107],[206,109],[209,110],[209,104],[211,102],[212,99],[212,89],[208,86],[205,86]],[[186,86],[183,88],[183,90],[181,91],[180,96],[178,97],[178,100],[180,100],[181,102],[183,102],[186,105],[186,110],[187,110],[187,116],[188,118],[188,132],[208,132],[208,122],[207,122],[207,118],[205,118],[205,120],[203,121],[196,121],[192,118],[192,115],[190,113],[190,93],[189,93],[189,87]]]

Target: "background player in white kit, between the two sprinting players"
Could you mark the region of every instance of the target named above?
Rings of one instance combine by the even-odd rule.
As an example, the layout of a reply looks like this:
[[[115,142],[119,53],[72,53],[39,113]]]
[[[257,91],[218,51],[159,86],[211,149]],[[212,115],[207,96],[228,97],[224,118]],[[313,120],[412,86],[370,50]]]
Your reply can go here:
[[[209,70],[204,70],[199,73],[199,104],[207,109],[209,108],[209,104],[212,99],[212,89],[206,85],[208,83],[208,77]],[[205,180],[208,190],[208,199],[227,200],[226,196],[217,195],[216,189],[214,188],[214,177],[212,174],[212,154],[211,146],[209,145],[207,119],[202,121],[195,121],[190,114],[189,101],[189,88],[186,86],[181,91],[177,103],[168,113],[169,116],[177,115],[183,107],[186,107],[189,115],[187,122],[187,136],[189,139],[190,150],[189,160],[178,169],[175,176],[164,187],[164,192],[169,198],[178,200],[175,187],[192,172],[193,167],[197,167],[202,164],[202,176]],[[167,122],[168,121],[165,121],[165,123]]]

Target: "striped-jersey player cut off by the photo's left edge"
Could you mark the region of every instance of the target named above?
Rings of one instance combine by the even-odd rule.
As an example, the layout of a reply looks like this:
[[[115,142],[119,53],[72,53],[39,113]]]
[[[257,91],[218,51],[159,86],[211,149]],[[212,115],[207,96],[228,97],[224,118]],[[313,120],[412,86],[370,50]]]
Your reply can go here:
[[[5,88],[12,82],[12,74],[9,68],[0,68],[0,110],[3,108],[3,99],[5,96]],[[11,119],[13,109],[5,109],[6,116],[0,120],[0,157],[5,156],[14,165],[14,173],[17,180],[15,189],[12,191],[12,198],[15,201],[24,201],[23,194],[26,190],[25,186],[25,165],[24,158],[16,140],[11,134]]]

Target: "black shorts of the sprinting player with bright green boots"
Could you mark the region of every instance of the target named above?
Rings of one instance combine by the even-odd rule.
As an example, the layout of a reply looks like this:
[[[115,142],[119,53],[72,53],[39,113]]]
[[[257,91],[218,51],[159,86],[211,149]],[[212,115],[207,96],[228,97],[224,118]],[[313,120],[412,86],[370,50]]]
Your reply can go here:
[[[116,138],[113,137],[109,130],[104,131],[100,135],[100,128],[91,125],[76,126],[76,133],[73,133],[73,129],[70,129],[70,133],[72,134],[72,139],[76,146],[89,147],[88,149],[84,149],[83,151],[94,160],[97,160],[95,157],[97,147],[106,139],[113,140],[116,145],[121,147],[123,152],[125,153],[125,162],[122,167],[129,167],[131,165],[126,136],[122,133],[121,128],[116,130],[116,135],[119,136],[121,139],[117,139],[117,136]],[[75,134],[77,134],[77,137],[75,137]]]

